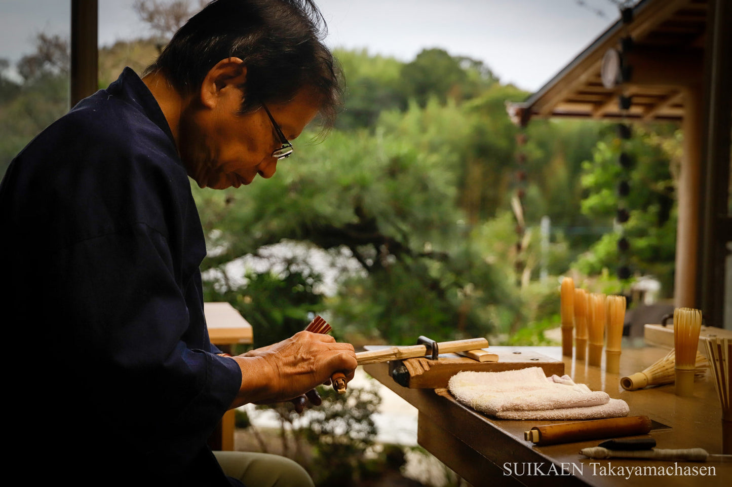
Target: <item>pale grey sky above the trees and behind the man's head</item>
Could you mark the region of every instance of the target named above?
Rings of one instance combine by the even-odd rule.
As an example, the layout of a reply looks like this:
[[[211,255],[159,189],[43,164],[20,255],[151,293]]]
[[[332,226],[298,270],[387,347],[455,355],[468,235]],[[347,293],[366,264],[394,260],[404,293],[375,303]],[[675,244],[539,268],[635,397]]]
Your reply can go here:
[[[146,34],[132,1],[99,0],[100,45]],[[317,1],[331,47],[367,48],[402,61],[423,48],[444,48],[481,60],[504,83],[531,92],[619,16],[617,0]],[[14,62],[32,52],[40,31],[68,34],[69,11],[66,0],[0,0],[0,58]]]

